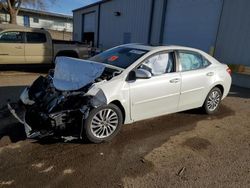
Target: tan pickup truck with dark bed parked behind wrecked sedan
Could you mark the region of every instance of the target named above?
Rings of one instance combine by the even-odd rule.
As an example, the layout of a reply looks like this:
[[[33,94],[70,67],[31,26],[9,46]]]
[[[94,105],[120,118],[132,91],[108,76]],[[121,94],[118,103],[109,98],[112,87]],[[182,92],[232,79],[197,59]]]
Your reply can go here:
[[[79,42],[52,40],[44,29],[0,24],[0,65],[51,64],[57,56],[84,59],[89,51]]]

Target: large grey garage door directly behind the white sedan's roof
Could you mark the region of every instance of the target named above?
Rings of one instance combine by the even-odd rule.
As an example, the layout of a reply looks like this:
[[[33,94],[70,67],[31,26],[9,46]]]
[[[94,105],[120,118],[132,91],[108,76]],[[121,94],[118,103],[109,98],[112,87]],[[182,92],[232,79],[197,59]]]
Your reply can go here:
[[[211,52],[222,5],[223,0],[168,0],[163,43]]]

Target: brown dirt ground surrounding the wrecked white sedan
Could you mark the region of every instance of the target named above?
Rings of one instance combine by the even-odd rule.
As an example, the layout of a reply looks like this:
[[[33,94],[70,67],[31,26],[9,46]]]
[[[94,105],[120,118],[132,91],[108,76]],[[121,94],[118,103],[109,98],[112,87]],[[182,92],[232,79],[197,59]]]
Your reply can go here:
[[[0,73],[0,187],[250,187],[250,90],[198,110],[126,125],[110,143],[24,140],[4,107],[37,74]]]

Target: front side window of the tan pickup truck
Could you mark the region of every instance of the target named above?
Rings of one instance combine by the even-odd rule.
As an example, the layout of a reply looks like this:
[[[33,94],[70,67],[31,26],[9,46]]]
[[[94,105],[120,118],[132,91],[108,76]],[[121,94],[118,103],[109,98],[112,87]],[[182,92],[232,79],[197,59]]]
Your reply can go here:
[[[23,33],[10,31],[0,34],[1,43],[22,43],[23,42]]]

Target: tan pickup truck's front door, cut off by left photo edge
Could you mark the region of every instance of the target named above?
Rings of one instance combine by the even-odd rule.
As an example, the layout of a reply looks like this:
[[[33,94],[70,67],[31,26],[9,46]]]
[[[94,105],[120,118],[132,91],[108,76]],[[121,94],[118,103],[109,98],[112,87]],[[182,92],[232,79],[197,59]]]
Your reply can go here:
[[[0,64],[24,64],[24,33],[6,31],[0,34]]]

